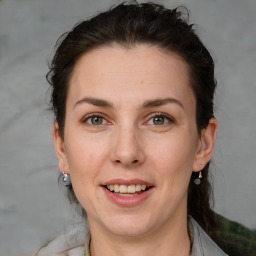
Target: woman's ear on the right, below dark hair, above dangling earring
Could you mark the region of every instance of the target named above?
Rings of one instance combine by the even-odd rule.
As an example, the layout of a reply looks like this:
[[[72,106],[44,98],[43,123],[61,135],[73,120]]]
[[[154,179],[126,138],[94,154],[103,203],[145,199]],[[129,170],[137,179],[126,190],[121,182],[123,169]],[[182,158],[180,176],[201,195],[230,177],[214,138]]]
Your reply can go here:
[[[193,171],[201,171],[211,160],[216,142],[218,123],[215,118],[211,118],[208,126],[202,130],[201,138],[193,164]]]

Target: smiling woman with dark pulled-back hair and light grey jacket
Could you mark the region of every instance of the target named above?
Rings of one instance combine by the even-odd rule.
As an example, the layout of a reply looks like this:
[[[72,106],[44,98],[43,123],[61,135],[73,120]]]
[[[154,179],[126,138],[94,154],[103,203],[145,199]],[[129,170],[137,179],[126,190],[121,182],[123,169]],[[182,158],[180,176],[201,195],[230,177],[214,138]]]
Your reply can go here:
[[[38,255],[226,255],[208,181],[214,63],[193,26],[177,9],[120,4],[57,45],[53,138],[90,232]]]

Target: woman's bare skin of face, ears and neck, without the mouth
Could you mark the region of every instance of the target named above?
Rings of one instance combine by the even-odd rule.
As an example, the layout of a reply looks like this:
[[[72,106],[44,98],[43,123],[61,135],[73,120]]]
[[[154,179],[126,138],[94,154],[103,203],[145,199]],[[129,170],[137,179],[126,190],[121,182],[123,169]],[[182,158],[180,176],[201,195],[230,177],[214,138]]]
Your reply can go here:
[[[109,106],[96,106],[92,98]],[[172,100],[152,104],[166,98]],[[57,123],[53,138],[60,170],[70,174],[87,211],[95,255],[189,255],[188,184],[211,159],[217,131],[211,119],[199,137],[195,113],[187,65],[175,54],[113,45],[77,62],[64,139]],[[102,188],[116,178],[145,180],[152,192],[140,204],[122,207]]]

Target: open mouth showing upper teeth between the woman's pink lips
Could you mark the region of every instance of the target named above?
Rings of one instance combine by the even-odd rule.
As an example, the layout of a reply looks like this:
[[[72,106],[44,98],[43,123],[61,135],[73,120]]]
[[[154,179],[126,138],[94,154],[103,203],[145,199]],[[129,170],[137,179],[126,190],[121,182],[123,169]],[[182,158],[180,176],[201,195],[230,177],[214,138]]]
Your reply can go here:
[[[145,184],[110,184],[104,186],[111,193],[121,196],[121,197],[133,197],[145,193],[150,190],[152,186],[147,186]]]

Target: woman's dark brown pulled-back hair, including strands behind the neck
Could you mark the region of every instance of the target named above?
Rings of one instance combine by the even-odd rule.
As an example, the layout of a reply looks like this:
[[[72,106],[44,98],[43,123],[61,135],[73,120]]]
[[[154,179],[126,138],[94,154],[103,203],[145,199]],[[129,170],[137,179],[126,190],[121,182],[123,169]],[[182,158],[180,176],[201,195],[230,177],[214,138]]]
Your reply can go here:
[[[185,10],[183,14],[180,10]],[[214,62],[186,21],[185,8],[167,9],[153,3],[122,3],[106,12],[83,21],[59,38],[47,79],[52,85],[52,109],[59,132],[64,139],[66,99],[72,71],[85,53],[113,44],[131,48],[136,45],[156,46],[180,56],[188,66],[190,86],[196,99],[198,134],[206,128],[213,114],[216,87]],[[209,163],[202,170],[200,185],[194,184],[193,172],[188,188],[188,214],[213,236],[217,222],[212,211],[212,187],[208,177]],[[77,202],[72,184],[69,198]]]

